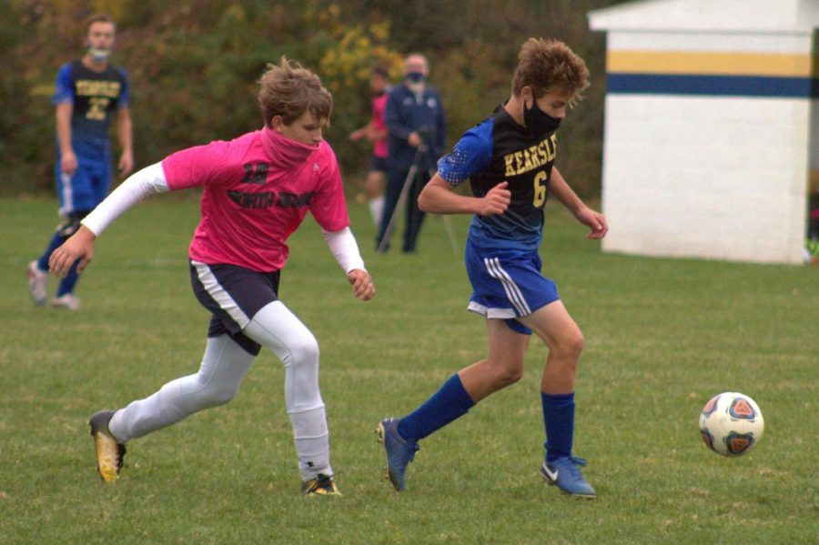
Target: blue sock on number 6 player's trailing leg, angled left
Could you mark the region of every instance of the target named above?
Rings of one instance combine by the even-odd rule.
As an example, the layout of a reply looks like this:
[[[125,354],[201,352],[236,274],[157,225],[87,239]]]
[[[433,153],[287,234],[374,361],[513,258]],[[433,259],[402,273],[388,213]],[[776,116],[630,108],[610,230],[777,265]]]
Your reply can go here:
[[[423,405],[401,419],[399,434],[407,440],[424,439],[465,415],[474,405],[475,402],[463,388],[460,377],[453,375]]]

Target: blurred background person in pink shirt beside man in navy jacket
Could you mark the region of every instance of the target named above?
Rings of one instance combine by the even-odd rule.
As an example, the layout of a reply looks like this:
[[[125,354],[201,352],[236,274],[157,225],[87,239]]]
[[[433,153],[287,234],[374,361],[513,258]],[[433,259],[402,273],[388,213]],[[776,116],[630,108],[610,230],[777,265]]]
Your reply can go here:
[[[381,210],[384,208],[384,180],[387,177],[387,124],[384,122],[384,109],[387,107],[389,73],[386,68],[375,66],[372,69],[369,89],[372,91],[372,117],[367,125],[351,132],[349,139],[356,141],[367,138],[372,142],[372,156],[369,159],[364,191],[369,213],[375,224],[379,225]]]

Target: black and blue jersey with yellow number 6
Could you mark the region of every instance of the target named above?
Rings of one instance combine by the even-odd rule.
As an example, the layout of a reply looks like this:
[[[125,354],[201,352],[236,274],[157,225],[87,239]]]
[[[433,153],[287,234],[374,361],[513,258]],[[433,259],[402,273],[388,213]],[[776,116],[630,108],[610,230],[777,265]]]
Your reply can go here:
[[[460,137],[452,152],[440,158],[438,174],[457,186],[467,178],[472,194],[509,182],[511,203],[497,216],[475,216],[470,238],[478,247],[537,249],[543,232],[543,206],[549,195],[557,136],[531,136],[498,106],[480,125]]]

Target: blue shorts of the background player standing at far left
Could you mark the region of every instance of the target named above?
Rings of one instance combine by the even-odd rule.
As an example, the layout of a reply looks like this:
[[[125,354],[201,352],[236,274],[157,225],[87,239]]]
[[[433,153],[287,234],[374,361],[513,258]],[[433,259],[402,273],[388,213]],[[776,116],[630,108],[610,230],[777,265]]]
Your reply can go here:
[[[99,161],[76,156],[76,171],[68,176],[62,172],[60,157],[57,154],[55,177],[61,215],[67,216],[80,210],[93,210],[108,195],[111,164],[107,159]]]

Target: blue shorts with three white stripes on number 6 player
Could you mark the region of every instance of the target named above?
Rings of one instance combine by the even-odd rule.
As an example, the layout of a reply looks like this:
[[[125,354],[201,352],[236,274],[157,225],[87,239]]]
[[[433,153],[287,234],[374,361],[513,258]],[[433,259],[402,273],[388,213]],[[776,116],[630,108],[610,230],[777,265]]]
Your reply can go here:
[[[517,319],[560,299],[554,282],[541,275],[537,250],[480,248],[467,240],[466,267],[472,284],[469,309],[506,321],[512,331],[531,335]]]

